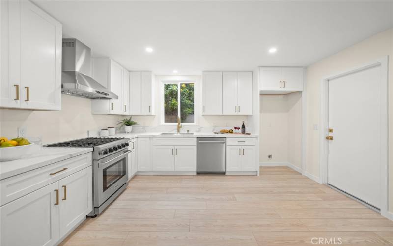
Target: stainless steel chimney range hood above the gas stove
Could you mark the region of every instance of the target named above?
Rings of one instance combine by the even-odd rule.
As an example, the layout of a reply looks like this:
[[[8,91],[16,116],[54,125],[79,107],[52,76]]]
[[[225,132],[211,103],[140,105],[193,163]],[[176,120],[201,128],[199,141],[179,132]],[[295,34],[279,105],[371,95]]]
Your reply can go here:
[[[91,99],[118,99],[118,96],[91,78],[91,50],[75,38],[63,38],[61,91]]]

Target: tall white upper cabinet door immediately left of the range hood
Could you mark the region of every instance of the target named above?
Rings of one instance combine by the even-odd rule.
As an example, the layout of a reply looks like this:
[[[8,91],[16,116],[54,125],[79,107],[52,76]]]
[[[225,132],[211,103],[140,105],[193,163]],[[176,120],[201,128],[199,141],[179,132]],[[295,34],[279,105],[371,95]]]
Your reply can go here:
[[[20,4],[21,107],[60,110],[62,26],[32,2]]]

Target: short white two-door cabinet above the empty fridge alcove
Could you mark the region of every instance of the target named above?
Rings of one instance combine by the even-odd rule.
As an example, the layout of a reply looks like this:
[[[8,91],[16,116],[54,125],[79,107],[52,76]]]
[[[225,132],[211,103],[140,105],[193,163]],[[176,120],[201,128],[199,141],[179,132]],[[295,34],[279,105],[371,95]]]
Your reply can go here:
[[[303,91],[303,67],[260,67],[261,94]]]

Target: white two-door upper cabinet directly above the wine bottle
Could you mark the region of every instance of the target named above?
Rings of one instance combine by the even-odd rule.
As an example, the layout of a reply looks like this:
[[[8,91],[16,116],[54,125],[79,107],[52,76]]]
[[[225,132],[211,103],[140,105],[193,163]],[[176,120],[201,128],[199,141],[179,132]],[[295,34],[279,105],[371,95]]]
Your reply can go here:
[[[253,114],[252,72],[223,72],[223,115]]]

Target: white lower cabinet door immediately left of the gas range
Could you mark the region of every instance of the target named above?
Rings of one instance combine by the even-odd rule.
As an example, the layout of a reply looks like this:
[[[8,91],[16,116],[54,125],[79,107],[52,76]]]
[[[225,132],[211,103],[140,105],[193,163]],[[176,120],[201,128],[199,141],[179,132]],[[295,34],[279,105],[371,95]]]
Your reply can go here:
[[[93,210],[91,166],[61,179],[58,184],[61,238]]]

